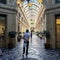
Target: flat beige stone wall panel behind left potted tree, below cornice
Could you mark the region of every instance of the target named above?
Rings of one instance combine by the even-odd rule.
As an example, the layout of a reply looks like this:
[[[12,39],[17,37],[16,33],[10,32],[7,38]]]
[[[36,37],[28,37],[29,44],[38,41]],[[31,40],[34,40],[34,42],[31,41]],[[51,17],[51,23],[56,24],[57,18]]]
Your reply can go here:
[[[17,22],[16,22],[16,14],[8,14],[7,15],[7,33],[10,31],[17,31]],[[8,41],[8,40],[7,40]],[[13,40],[14,45],[16,44],[16,39]]]

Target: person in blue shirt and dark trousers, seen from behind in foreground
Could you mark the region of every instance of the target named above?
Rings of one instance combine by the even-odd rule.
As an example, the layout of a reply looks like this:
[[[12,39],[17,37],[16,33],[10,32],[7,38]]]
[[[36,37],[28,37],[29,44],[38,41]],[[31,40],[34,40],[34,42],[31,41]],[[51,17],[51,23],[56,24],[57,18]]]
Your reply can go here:
[[[29,30],[27,29],[26,32],[24,33],[24,44],[23,44],[23,57],[25,54],[25,49],[26,49],[26,57],[28,55],[28,48],[29,48],[29,37],[30,37],[30,33]]]

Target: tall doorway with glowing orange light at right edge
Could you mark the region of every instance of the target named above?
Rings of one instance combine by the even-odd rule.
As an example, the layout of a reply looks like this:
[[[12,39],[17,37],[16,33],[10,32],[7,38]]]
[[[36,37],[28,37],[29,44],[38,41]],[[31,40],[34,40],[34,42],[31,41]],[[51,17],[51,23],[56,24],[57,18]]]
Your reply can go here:
[[[60,15],[56,16],[56,48],[60,48]]]

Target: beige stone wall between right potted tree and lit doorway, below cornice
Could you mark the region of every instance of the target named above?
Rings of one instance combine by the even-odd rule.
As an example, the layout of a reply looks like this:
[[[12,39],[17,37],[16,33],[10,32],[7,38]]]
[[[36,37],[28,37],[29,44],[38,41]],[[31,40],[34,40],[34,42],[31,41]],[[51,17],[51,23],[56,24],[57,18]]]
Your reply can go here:
[[[55,48],[55,16],[54,14],[46,14],[46,30],[50,32],[50,46]]]

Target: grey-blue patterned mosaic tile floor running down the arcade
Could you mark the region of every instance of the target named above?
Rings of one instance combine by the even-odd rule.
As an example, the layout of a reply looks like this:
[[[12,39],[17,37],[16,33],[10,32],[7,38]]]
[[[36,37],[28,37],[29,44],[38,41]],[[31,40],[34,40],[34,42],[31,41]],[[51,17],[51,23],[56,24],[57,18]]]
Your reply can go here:
[[[36,35],[33,35],[32,40],[28,57],[22,57],[22,40],[12,50],[6,50],[4,53],[0,51],[0,60],[60,60],[60,49],[44,49],[44,40],[40,40]]]

